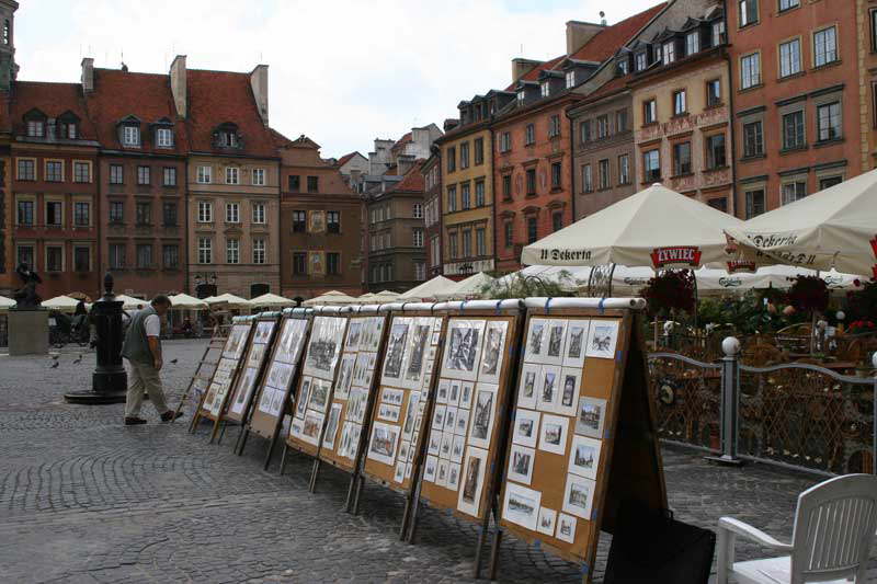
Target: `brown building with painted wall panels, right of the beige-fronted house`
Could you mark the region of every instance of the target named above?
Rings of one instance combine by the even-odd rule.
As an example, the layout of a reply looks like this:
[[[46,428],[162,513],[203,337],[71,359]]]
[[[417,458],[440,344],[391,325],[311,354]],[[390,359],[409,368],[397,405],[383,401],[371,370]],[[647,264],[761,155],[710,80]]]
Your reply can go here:
[[[303,299],[339,290],[362,294],[361,202],[337,165],[305,136],[274,133],[281,156],[281,288]]]

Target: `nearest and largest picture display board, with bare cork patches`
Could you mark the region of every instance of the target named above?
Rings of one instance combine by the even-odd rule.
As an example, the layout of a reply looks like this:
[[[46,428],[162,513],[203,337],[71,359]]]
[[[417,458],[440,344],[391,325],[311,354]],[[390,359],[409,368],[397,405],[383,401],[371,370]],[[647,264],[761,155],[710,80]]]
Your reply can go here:
[[[600,531],[614,530],[623,501],[667,508],[640,339],[645,301],[528,298],[525,305],[500,525],[581,563],[590,583]]]

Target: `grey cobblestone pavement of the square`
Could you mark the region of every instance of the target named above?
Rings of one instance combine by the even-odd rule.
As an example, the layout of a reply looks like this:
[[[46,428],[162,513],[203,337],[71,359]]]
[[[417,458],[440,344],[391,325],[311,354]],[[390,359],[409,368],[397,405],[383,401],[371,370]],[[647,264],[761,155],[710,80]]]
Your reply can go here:
[[[163,373],[175,404],[202,341],[169,342]],[[418,542],[398,541],[402,501],[366,485],[358,516],[341,512],[348,477],[333,470],[307,493],[310,461],[263,472],[265,443],[231,454],[232,430],[207,444],[185,423],[122,425],[123,406],[65,404],[90,387],[93,354],[0,357],[0,581],[3,582],[460,582],[469,581],[476,528],[423,511]],[[191,411],[191,408],[189,409]],[[763,466],[726,469],[664,448],[671,507],[714,527],[733,515],[781,538],[791,533],[797,494],[812,476]],[[608,550],[601,540],[600,576]],[[739,546],[738,557],[759,557]],[[486,554],[487,557],[487,548]],[[877,579],[877,566],[875,566]],[[579,582],[578,566],[503,539],[500,580]]]

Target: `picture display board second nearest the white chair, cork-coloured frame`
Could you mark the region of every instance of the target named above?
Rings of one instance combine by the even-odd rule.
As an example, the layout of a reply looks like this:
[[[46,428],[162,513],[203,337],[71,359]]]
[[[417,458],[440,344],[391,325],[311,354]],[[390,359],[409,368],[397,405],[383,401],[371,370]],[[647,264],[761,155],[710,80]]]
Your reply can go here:
[[[417,502],[449,509],[483,526],[504,460],[511,397],[523,329],[521,300],[436,305],[445,314],[445,348],[425,432],[425,459]],[[412,514],[413,537],[417,511]]]

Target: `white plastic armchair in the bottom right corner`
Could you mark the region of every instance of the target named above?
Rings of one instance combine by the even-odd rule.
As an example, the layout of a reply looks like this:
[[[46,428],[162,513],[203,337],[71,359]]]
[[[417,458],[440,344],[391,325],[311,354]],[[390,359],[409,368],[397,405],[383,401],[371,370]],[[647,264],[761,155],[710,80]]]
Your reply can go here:
[[[717,583],[802,584],[866,582],[875,526],[877,476],[846,474],[798,495],[791,543],[731,517],[719,519]],[[733,561],[736,536],[788,556]]]

